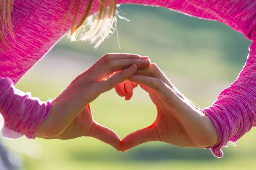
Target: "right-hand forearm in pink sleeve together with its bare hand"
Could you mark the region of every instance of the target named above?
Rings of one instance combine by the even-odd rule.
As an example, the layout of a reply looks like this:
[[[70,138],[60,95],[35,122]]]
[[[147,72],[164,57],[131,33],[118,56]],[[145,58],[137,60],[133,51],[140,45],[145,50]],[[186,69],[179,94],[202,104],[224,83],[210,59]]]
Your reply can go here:
[[[221,147],[236,142],[256,125],[255,42],[250,50],[238,79],[204,109],[186,99],[157,65],[151,63],[147,70],[137,71],[129,80],[148,92],[157,107],[157,117],[148,127],[122,139],[121,150],[160,141],[179,147],[210,148],[216,157],[222,157]]]

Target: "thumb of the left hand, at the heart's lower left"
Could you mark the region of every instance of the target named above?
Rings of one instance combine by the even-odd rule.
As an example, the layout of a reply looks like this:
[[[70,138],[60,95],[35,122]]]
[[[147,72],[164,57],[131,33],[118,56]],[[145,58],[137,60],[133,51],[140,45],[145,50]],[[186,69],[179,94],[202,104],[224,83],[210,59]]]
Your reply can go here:
[[[121,150],[121,139],[120,137],[108,127],[102,126],[97,122],[93,122],[90,131],[87,136],[99,139],[106,144],[110,144],[117,151]]]

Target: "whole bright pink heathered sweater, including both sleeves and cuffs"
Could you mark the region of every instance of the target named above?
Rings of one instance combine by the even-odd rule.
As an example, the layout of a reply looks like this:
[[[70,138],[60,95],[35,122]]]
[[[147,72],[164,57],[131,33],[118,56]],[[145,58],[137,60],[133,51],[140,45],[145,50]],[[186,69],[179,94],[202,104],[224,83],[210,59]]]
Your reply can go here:
[[[90,14],[98,7],[98,0],[93,1]],[[256,0],[117,0],[117,3],[163,6],[190,16],[216,20],[244,34],[247,39],[256,40]],[[85,4],[86,0],[82,1],[78,19]],[[41,102],[23,93],[14,84],[69,30],[75,8],[61,33],[61,19],[69,6],[70,0],[14,0],[12,22],[18,44],[9,42],[9,49],[0,43],[4,51],[0,52],[0,112],[5,119],[5,136],[34,138],[49,114],[50,102]],[[202,110],[218,130],[219,142],[210,147],[217,157],[223,155],[222,146],[228,141],[237,141],[253,126],[256,115],[255,46],[253,42],[247,63],[236,82],[222,91],[212,106]]]

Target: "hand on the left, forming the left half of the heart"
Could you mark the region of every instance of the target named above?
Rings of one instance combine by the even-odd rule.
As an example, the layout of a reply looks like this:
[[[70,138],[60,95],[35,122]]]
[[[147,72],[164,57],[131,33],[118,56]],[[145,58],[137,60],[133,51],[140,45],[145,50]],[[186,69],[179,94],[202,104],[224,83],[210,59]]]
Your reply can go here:
[[[74,139],[91,136],[121,149],[119,136],[93,120],[90,102],[111,90],[118,83],[146,69],[150,61],[135,54],[106,54],[52,101],[47,119],[40,125],[36,137],[44,139]],[[114,71],[120,71],[109,77]]]

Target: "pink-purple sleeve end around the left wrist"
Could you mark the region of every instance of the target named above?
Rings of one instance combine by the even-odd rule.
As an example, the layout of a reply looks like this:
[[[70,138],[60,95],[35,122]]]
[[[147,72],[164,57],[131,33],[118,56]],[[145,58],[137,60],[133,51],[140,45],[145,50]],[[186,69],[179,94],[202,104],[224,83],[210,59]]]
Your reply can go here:
[[[3,136],[35,138],[39,125],[49,115],[51,103],[41,102],[13,85],[9,78],[0,77],[0,113],[4,119]],[[1,121],[3,124],[3,120]]]

